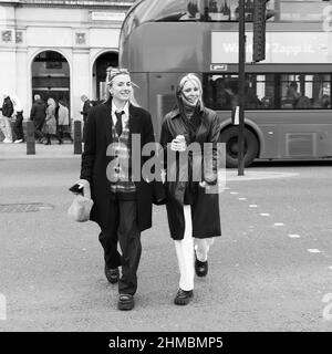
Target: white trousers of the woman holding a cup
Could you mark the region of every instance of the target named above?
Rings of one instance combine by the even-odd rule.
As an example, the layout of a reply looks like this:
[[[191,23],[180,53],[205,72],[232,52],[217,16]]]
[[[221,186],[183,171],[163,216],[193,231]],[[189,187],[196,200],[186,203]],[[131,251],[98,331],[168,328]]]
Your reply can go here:
[[[183,290],[194,289],[194,239],[190,206],[184,206],[185,214],[185,236],[183,240],[174,240],[175,251],[180,272],[179,288]],[[198,260],[206,261],[214,238],[197,239],[195,238],[195,249]]]

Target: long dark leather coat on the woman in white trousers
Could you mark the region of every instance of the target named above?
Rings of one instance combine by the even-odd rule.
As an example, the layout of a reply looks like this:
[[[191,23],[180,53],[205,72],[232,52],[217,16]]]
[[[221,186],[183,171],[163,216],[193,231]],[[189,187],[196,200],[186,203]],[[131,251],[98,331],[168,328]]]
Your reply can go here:
[[[169,154],[169,144],[177,135],[184,135],[186,137],[187,145],[191,143],[198,143],[199,150],[204,152],[205,143],[212,143],[215,147],[210,156],[206,154],[208,159],[211,158],[212,163],[205,164],[204,154],[193,154],[191,158],[187,158],[187,163],[184,160],[176,166],[176,162],[165,167],[167,168],[166,175],[166,194],[167,194],[167,217],[170,230],[170,237],[175,240],[181,240],[185,233],[185,218],[183,206],[185,204],[185,195],[188,192],[191,195],[189,204],[191,205],[191,218],[193,218],[193,237],[195,238],[210,238],[221,236],[220,228],[220,215],[219,215],[219,195],[217,183],[217,142],[220,132],[220,121],[216,112],[209,108],[201,108],[198,113],[199,125],[196,131],[195,139],[190,139],[188,126],[185,124],[184,118],[180,116],[178,110],[169,112],[162,125],[160,145],[164,148],[164,162],[167,162],[167,152]],[[189,139],[189,140],[188,140]],[[196,165],[196,166],[195,166]],[[197,167],[198,166],[198,167]],[[206,166],[204,168],[204,166]],[[211,168],[210,168],[210,167]],[[206,192],[205,188],[199,186],[197,179],[193,177],[193,170],[200,171],[201,180],[209,185],[215,185],[215,192]],[[169,180],[169,173],[178,169],[176,179]],[[188,171],[188,181],[181,179],[185,170]]]

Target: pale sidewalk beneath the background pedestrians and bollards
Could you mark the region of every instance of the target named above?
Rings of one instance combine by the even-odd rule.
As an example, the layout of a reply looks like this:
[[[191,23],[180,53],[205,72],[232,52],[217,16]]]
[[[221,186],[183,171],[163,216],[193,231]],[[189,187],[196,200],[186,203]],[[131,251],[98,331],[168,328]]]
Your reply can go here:
[[[82,146],[83,149],[83,146]],[[4,144],[0,143],[0,159],[12,158],[66,158],[66,157],[81,157],[74,155],[74,145],[64,143],[58,145],[35,144],[35,155],[27,155],[27,144]]]

